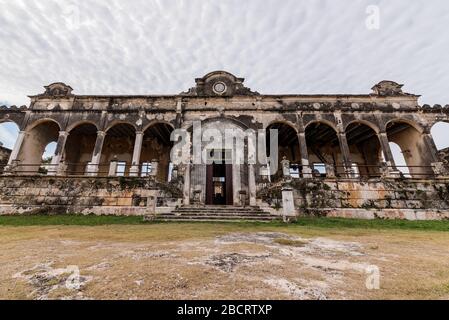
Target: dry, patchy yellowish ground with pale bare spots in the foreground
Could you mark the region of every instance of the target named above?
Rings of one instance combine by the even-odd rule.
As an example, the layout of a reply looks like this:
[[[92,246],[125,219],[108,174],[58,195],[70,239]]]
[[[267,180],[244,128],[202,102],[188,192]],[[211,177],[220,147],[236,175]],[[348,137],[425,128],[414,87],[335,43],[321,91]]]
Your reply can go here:
[[[2,299],[449,299],[445,232],[0,227],[0,246]]]

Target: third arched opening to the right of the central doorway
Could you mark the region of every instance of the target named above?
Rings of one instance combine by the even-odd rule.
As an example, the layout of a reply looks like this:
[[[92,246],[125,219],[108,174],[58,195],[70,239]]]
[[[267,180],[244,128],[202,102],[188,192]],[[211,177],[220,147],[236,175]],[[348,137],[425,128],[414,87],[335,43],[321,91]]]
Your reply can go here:
[[[353,168],[360,177],[379,177],[382,152],[376,131],[364,123],[353,122],[346,127],[346,139]]]

